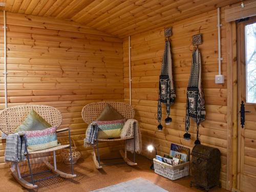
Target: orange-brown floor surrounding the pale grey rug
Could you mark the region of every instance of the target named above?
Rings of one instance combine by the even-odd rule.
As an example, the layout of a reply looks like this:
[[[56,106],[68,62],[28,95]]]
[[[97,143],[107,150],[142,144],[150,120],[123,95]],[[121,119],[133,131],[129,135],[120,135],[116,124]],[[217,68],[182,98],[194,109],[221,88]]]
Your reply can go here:
[[[156,185],[171,192],[203,191],[195,187],[189,187],[191,177],[185,177],[177,181],[170,181],[164,177],[158,176],[151,169],[150,160],[137,156],[138,166],[131,167],[126,164],[105,166],[102,170],[97,170],[92,162],[92,157],[81,159],[75,165],[75,179],[54,178],[37,183],[38,189],[29,191],[91,191],[98,188],[114,185],[120,182],[129,181],[135,178],[147,179]],[[60,169],[67,169],[66,165],[58,163]],[[22,167],[22,172],[26,172],[27,167]],[[34,165],[33,169],[38,172],[40,169],[46,169],[42,165]],[[45,174],[46,176],[47,174]],[[9,169],[0,169],[0,191],[27,191],[15,182]],[[214,191],[227,191],[218,187],[212,188]]]

